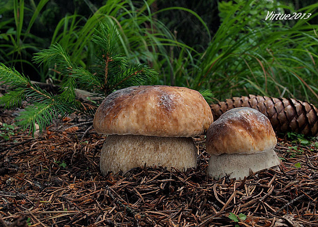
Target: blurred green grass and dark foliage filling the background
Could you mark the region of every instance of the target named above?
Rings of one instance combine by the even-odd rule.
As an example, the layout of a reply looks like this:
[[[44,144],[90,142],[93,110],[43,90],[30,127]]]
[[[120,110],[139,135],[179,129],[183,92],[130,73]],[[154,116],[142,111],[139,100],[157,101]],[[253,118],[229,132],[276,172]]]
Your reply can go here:
[[[116,1],[48,0],[36,16],[30,31],[24,33],[36,7],[42,2],[25,1],[21,37],[18,38],[13,12],[14,3],[18,5],[21,2],[0,2],[0,62],[15,67],[32,80],[54,80],[54,73],[47,67],[36,65],[32,56],[57,42],[70,52],[76,64],[86,69],[94,68],[94,55],[98,50],[92,42],[76,38],[67,42],[70,37],[77,37],[87,31],[87,28],[81,28],[89,28],[88,22],[94,16],[96,21],[107,19],[103,13],[108,11],[103,7]],[[152,81],[153,84],[186,86],[196,90],[211,89],[218,99],[254,93],[318,102],[317,57],[314,54],[318,52],[314,42],[314,28],[318,24],[315,15],[317,10],[312,11],[314,16],[306,22],[295,19],[265,22],[264,19],[267,10],[292,13],[316,4],[316,1],[161,0],[117,3],[122,2],[125,2],[123,8],[111,15],[115,18],[114,22],[120,25],[122,52],[129,55],[132,61],[146,63],[159,73],[158,78]],[[237,3],[247,3],[250,7],[244,6],[245,12],[241,7],[226,18],[234,12],[231,10]],[[277,4],[284,6],[277,7]],[[170,7],[174,8],[165,10]],[[125,14],[126,11],[130,17]],[[101,12],[102,16],[96,16],[97,12]],[[134,17],[138,12],[148,18],[143,21],[142,17]],[[237,17],[237,20],[231,21],[232,16]],[[72,21],[72,18],[75,19]],[[97,24],[91,23],[91,29],[97,28]],[[253,34],[254,31],[257,34]],[[85,47],[76,52],[76,42],[86,42]],[[276,45],[279,42],[283,44]],[[266,84],[268,79],[271,80],[270,87]],[[220,84],[221,80],[227,81],[227,85]],[[237,86],[240,88],[236,89]]]

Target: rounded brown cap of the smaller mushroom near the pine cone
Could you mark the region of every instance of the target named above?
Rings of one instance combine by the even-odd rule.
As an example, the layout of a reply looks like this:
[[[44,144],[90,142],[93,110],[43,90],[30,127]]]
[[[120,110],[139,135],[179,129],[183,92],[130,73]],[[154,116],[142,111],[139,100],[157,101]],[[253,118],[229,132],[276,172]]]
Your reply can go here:
[[[269,119],[248,107],[234,108],[214,121],[207,131],[211,155],[253,154],[272,150],[276,137]]]

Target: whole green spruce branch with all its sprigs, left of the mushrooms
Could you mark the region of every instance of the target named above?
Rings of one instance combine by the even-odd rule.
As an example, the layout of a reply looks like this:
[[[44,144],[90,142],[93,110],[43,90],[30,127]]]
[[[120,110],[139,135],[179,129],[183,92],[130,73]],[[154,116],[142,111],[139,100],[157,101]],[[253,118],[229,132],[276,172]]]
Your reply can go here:
[[[35,63],[55,66],[56,71],[61,74],[61,87],[55,95],[32,84],[27,76],[14,68],[0,64],[0,82],[9,86],[9,92],[0,97],[0,104],[5,108],[18,107],[22,100],[31,104],[16,117],[18,126],[23,130],[29,129],[34,135],[35,123],[44,129],[54,118],[72,112],[93,114],[91,108],[83,107],[75,99],[77,88],[105,97],[118,89],[143,85],[156,76],[156,72],[146,65],[131,64],[126,56],[118,53],[118,33],[115,26],[101,23],[100,29],[95,31],[93,42],[100,47],[100,53],[96,56],[97,67],[92,70],[74,65],[59,44],[51,45],[34,55]]]

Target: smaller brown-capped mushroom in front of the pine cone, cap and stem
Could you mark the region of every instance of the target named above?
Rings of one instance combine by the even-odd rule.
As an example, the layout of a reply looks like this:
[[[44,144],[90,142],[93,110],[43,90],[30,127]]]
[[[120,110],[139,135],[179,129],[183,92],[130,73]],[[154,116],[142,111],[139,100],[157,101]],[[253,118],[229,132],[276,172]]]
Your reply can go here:
[[[208,175],[243,179],[251,172],[280,164],[274,152],[276,137],[269,119],[252,108],[234,108],[214,121],[207,131],[211,155]]]

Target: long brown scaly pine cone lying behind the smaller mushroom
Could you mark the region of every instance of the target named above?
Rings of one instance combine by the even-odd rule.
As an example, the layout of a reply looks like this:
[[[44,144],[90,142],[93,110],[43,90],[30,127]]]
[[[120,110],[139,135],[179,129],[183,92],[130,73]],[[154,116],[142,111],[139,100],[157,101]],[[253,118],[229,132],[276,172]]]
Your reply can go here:
[[[306,101],[260,95],[233,97],[211,105],[214,120],[236,107],[250,107],[260,111],[269,118],[276,132],[318,136],[318,109]]]

